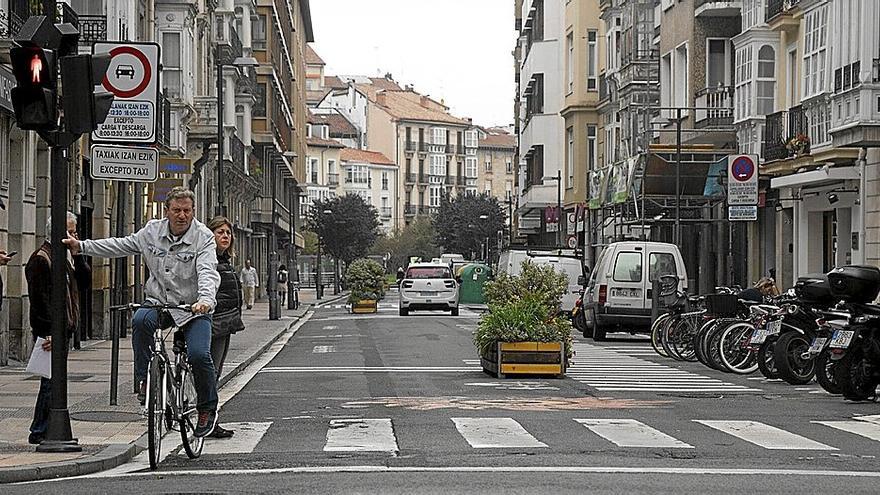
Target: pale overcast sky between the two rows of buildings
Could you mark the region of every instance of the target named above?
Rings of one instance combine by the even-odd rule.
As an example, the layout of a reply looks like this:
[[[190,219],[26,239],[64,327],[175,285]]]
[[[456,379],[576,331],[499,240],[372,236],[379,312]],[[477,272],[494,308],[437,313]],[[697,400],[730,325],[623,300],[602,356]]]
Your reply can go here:
[[[456,117],[513,123],[510,0],[312,0],[325,73],[382,76],[445,100]]]

